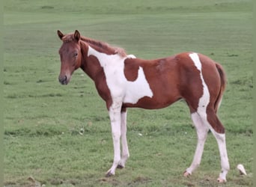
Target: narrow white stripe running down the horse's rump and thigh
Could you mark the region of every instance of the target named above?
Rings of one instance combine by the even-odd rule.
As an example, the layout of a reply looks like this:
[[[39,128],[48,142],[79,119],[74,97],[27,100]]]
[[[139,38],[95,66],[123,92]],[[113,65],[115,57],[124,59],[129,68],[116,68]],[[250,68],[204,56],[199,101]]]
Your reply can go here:
[[[209,93],[207,84],[204,82],[201,61],[200,61],[197,53],[189,54],[189,57],[194,62],[195,67],[199,70],[200,78],[201,78],[202,85],[203,85],[203,95],[201,96],[201,98],[199,99],[199,102],[198,102],[198,112],[201,111],[200,113],[204,113],[206,116],[207,105],[210,102],[210,93]]]

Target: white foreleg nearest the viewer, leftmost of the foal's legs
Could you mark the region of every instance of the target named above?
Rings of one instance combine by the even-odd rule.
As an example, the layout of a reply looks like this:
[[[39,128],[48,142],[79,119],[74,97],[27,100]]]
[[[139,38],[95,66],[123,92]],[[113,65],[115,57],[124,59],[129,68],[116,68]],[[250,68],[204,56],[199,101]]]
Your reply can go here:
[[[120,138],[121,138],[121,103],[113,103],[109,108],[109,117],[112,128],[112,138],[114,145],[114,161],[112,167],[107,171],[106,177],[115,175],[115,169],[121,162]]]

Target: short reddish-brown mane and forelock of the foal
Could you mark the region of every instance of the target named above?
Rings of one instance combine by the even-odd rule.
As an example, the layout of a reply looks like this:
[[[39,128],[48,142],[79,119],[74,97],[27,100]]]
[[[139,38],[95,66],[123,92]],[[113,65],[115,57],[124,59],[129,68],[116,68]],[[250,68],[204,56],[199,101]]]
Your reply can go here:
[[[75,40],[74,34],[66,34],[63,38],[62,41],[63,42],[70,42]],[[121,57],[126,57],[127,53],[125,52],[124,49],[120,48],[120,47],[116,47],[116,46],[110,46],[109,43],[105,43],[102,41],[98,41],[98,40],[94,40],[88,37],[80,37],[80,40],[84,41],[85,43],[91,44],[93,46],[97,46],[100,49],[106,49],[109,51],[112,51],[113,54],[118,54]]]

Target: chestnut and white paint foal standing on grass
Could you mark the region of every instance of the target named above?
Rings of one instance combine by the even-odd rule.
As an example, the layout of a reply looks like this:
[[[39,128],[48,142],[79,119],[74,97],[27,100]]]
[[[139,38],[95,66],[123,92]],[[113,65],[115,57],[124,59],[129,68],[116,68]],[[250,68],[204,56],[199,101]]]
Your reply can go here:
[[[210,129],[221,157],[222,172],[218,181],[226,182],[229,162],[225,128],[216,115],[226,85],[225,72],[220,64],[195,52],[148,61],[127,55],[124,49],[108,43],[82,37],[79,31],[57,33],[63,41],[59,49],[59,82],[67,85],[73,72],[81,68],[94,81],[99,95],[106,101],[115,154],[106,177],[114,175],[116,168],[124,168],[129,157],[127,108],[164,108],[184,99],[195,124],[198,143],[192,164],[183,175],[191,175],[200,165]]]

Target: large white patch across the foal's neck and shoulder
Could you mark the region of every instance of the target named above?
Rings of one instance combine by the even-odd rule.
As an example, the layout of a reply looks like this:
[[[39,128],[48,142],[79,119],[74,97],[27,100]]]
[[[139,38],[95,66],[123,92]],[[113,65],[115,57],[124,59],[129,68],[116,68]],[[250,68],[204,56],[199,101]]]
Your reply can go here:
[[[153,96],[142,67],[139,67],[138,78],[134,82],[127,81],[124,76],[124,60],[135,58],[134,55],[127,55],[125,58],[118,54],[106,55],[105,53],[97,52],[91,46],[88,48],[89,55],[94,55],[100,62],[101,67],[103,67],[106,83],[112,94],[113,101],[135,104],[138,99],[144,96]]]

